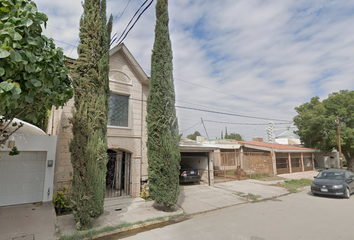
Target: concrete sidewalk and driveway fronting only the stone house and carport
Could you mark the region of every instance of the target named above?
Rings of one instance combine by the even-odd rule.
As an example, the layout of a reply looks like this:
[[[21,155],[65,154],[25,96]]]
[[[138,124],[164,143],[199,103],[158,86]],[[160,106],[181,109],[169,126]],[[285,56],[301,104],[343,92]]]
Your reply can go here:
[[[123,198],[105,201],[105,212],[93,222],[95,229],[118,226],[124,223],[144,222],[148,219],[170,217],[184,213],[197,214],[251,201],[243,194],[260,195],[262,198],[277,197],[288,193],[281,187],[262,184],[262,181],[231,181],[215,186],[181,185],[180,197],[175,212],[163,212],[162,206],[145,202],[141,198]],[[77,233],[72,215],[58,216],[60,235]]]

